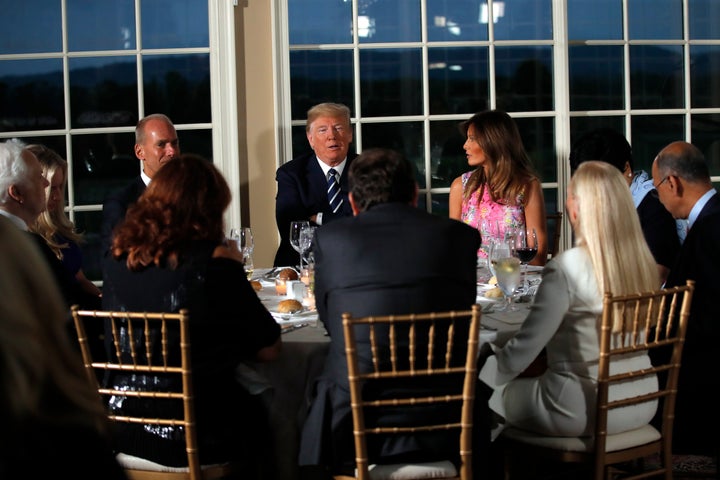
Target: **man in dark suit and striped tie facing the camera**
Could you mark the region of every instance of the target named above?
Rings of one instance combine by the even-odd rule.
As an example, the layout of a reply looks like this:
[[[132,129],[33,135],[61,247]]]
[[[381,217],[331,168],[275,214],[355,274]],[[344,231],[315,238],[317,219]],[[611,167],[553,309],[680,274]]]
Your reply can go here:
[[[280,246],[273,265],[296,265],[300,259],[290,245],[290,222],[308,220],[324,225],[352,215],[347,198],[347,172],[356,154],[348,154],[353,132],[350,109],[338,103],[315,105],[307,114],[305,126],[312,152],[292,159],[278,168],[275,176],[275,221]],[[339,177],[337,208],[328,200],[328,176],[334,169]]]

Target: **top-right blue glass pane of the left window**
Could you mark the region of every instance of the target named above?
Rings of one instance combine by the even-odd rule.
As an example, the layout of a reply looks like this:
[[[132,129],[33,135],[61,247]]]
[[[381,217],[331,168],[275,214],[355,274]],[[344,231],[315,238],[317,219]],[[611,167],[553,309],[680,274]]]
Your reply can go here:
[[[143,1],[140,2],[140,19],[142,48],[191,48],[209,45],[207,2]]]

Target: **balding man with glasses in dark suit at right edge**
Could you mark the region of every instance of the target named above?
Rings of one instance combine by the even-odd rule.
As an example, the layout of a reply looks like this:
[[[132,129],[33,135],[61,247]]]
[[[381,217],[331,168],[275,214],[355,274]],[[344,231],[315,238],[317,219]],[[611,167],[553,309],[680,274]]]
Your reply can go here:
[[[702,152],[687,142],[663,148],[652,165],[660,201],[689,230],[666,286],[695,280],[675,404],[673,453],[717,455],[720,411],[720,197]]]

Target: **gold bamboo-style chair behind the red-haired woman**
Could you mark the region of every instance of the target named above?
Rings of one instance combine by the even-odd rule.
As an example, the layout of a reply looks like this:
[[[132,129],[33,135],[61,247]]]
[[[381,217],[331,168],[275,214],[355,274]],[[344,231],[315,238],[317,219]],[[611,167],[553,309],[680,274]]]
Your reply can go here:
[[[221,478],[235,468],[231,463],[201,466],[195,424],[193,400],[193,373],[190,363],[190,316],[186,309],[178,313],[120,312],[71,309],[80,343],[83,363],[88,379],[97,387],[107,405],[108,397],[116,401],[143,399],[146,402],[162,402],[167,412],[159,418],[119,416],[108,414],[113,422],[182,427],[185,435],[187,468],[160,465],[149,460],[119,454],[118,460],[131,479],[187,479],[206,480]],[[89,332],[103,331],[110,338],[106,343],[108,358],[94,358],[98,349],[90,344]],[[128,340],[131,341],[128,341]],[[107,341],[109,340],[109,342]],[[146,390],[120,390],[105,388],[98,379],[113,372],[138,375],[163,375],[172,378],[170,385],[181,388],[154,388]],[[179,405],[168,408],[168,402]],[[182,412],[182,413],[175,413]]]

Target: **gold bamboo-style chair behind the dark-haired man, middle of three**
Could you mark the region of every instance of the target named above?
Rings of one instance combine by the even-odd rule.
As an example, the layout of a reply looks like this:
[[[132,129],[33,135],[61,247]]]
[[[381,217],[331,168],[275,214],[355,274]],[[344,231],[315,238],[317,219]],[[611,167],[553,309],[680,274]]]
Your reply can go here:
[[[455,472],[451,478],[472,478],[473,402],[480,315],[478,305],[466,311],[422,314],[360,318],[343,314],[358,479],[373,478],[368,473],[372,460],[368,458],[369,435],[418,434],[449,429],[457,429],[460,459],[460,475],[458,477]],[[370,350],[369,358],[360,358],[359,337]],[[383,385],[394,388],[373,390],[374,381],[385,382]],[[441,390],[400,393],[403,385],[413,382],[435,385],[435,381],[444,382]],[[397,407],[407,411],[415,406],[439,406],[445,411],[456,412],[456,415],[442,421],[431,418],[432,415],[421,416],[411,423],[388,418],[382,422],[373,420],[381,415],[379,412],[383,408]]]

